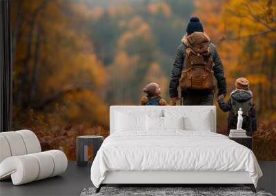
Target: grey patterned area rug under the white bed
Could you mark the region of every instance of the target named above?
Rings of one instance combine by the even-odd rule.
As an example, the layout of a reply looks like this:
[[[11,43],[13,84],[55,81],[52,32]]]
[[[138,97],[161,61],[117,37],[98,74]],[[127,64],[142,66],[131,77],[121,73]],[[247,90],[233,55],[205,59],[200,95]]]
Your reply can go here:
[[[84,188],[81,196],[92,195],[188,195],[188,196],[205,196],[205,195],[226,195],[226,196],[247,196],[262,195],[273,196],[265,193],[262,189],[257,189],[257,193],[253,193],[248,187],[102,187],[99,193],[95,193],[96,188]]]

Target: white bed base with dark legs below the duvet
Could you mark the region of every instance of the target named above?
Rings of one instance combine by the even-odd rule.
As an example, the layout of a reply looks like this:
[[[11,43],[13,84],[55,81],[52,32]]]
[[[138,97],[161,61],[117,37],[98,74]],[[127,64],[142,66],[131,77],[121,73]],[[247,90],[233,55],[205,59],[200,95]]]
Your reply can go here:
[[[256,193],[248,172],[242,171],[108,171],[96,189],[106,185],[122,186],[249,186]]]

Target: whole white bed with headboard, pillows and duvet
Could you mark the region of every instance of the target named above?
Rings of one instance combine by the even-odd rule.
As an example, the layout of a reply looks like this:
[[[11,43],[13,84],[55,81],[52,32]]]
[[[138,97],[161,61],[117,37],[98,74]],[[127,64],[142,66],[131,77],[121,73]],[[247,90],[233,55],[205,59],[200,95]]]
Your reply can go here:
[[[92,183],[97,192],[104,184],[248,184],[255,191],[262,177],[255,155],[216,127],[214,106],[111,106]]]

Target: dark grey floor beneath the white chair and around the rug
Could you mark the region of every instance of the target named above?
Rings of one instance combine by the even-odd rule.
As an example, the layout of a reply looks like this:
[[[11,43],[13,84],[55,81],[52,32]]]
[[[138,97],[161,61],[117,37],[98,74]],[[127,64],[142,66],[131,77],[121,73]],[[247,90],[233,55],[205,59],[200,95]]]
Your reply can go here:
[[[259,162],[264,177],[259,179],[259,188],[276,194],[276,162]],[[11,180],[0,182],[0,195],[80,195],[83,188],[91,187],[90,167],[77,166],[76,162],[68,162],[66,173],[61,176],[42,179],[20,186],[13,186]],[[195,186],[195,185],[194,185]],[[199,185],[200,186],[200,185]],[[219,186],[212,185],[212,186]],[[228,186],[231,186],[230,184]],[[233,184],[233,186],[235,186]]]

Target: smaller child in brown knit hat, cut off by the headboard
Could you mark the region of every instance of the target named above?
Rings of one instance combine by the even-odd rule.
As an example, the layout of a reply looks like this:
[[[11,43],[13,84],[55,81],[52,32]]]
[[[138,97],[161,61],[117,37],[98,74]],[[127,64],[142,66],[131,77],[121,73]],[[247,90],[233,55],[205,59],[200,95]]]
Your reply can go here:
[[[161,88],[157,83],[149,83],[143,91],[146,96],[141,98],[141,105],[167,105],[166,100],[160,96]]]

